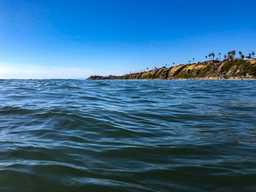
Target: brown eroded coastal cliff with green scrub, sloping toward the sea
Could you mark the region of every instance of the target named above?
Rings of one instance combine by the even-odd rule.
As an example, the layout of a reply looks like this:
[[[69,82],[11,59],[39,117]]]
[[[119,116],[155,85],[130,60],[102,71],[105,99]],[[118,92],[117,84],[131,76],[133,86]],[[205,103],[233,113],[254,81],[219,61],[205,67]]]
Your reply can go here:
[[[256,79],[256,60],[208,61],[122,76],[91,76],[88,80],[177,80],[177,79]]]

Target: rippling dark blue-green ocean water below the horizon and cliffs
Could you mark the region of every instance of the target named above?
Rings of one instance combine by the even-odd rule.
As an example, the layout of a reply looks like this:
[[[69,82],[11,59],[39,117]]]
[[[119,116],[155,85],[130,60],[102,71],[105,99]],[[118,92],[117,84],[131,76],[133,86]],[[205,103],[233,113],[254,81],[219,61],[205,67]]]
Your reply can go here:
[[[0,80],[0,191],[256,191],[256,81]]]

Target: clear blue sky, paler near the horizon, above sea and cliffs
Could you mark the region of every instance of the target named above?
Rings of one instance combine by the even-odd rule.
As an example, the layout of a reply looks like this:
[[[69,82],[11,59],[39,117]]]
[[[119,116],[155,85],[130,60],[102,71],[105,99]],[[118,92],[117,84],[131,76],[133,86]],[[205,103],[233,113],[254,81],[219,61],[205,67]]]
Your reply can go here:
[[[255,47],[255,0],[0,0],[0,78],[124,74]]]

